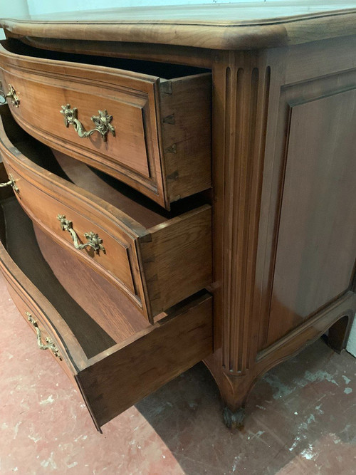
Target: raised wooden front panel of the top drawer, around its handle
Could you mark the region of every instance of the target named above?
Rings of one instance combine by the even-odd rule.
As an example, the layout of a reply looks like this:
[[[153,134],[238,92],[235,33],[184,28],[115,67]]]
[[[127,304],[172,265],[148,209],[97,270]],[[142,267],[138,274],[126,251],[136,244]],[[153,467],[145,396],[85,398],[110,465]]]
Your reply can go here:
[[[14,108],[12,112],[21,125],[31,130],[31,134],[48,136],[48,141],[65,147],[68,153],[70,150],[84,153],[94,166],[103,164],[115,173],[117,164],[120,164],[127,168],[127,174],[135,173],[142,179],[150,179],[145,135],[152,142],[152,83],[148,83],[150,87],[147,90],[135,90],[130,94],[120,85],[109,83],[98,86],[94,82],[83,85],[74,76],[61,78],[59,71],[43,77],[11,70],[4,71],[3,77],[5,84],[14,85],[20,99],[19,108]],[[99,115],[99,110],[108,110],[108,114],[112,115],[110,125],[114,127],[115,136],[108,132],[105,141],[99,132],[90,137],[80,137],[73,125],[66,127],[61,111],[62,106],[67,104],[71,109],[78,109],[78,120],[86,131],[95,128],[90,119],[93,115]],[[33,113],[36,108],[41,113]]]

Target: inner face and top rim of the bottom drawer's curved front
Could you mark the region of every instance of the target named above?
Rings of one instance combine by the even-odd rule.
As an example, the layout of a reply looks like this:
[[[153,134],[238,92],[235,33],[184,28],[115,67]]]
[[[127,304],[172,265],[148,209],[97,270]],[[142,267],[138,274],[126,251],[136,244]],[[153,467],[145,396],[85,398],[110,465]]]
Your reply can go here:
[[[88,357],[93,357],[115,344],[90,316],[83,311],[53,275],[38,249],[31,220],[16,199],[2,202],[6,225],[6,249],[1,247],[1,271],[13,293],[19,294],[21,314],[33,313],[48,328],[51,336],[66,348],[70,365],[83,367]],[[26,236],[26,246],[23,245]],[[83,328],[86,329],[83,332]],[[36,341],[34,340],[34,343]],[[33,347],[36,349],[36,345]],[[83,348],[83,350],[82,350]],[[66,351],[63,351],[66,358]]]

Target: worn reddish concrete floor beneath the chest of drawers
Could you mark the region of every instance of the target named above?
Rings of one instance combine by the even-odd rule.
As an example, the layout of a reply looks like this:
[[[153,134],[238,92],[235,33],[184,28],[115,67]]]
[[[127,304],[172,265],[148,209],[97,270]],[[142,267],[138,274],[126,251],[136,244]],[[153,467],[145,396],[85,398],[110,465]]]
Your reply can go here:
[[[1,474],[356,474],[356,360],[322,340],[267,373],[244,429],[199,364],[95,431],[0,278]]]

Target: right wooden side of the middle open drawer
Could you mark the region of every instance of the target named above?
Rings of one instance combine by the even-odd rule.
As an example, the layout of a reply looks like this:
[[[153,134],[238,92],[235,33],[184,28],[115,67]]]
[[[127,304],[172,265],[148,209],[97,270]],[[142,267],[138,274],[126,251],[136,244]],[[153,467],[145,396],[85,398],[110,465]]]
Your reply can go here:
[[[139,241],[153,315],[211,283],[210,205],[171,219],[169,227],[158,224]]]

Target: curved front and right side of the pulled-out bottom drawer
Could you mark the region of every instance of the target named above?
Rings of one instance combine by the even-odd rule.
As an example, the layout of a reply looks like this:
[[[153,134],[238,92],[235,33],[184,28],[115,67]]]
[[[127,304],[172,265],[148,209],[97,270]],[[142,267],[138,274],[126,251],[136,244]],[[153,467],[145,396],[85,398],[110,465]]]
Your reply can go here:
[[[1,201],[0,236],[0,268],[35,332],[33,351],[47,346],[78,387],[98,430],[211,353],[208,293],[162,313],[155,325],[142,317],[114,340],[58,282],[14,197]]]

